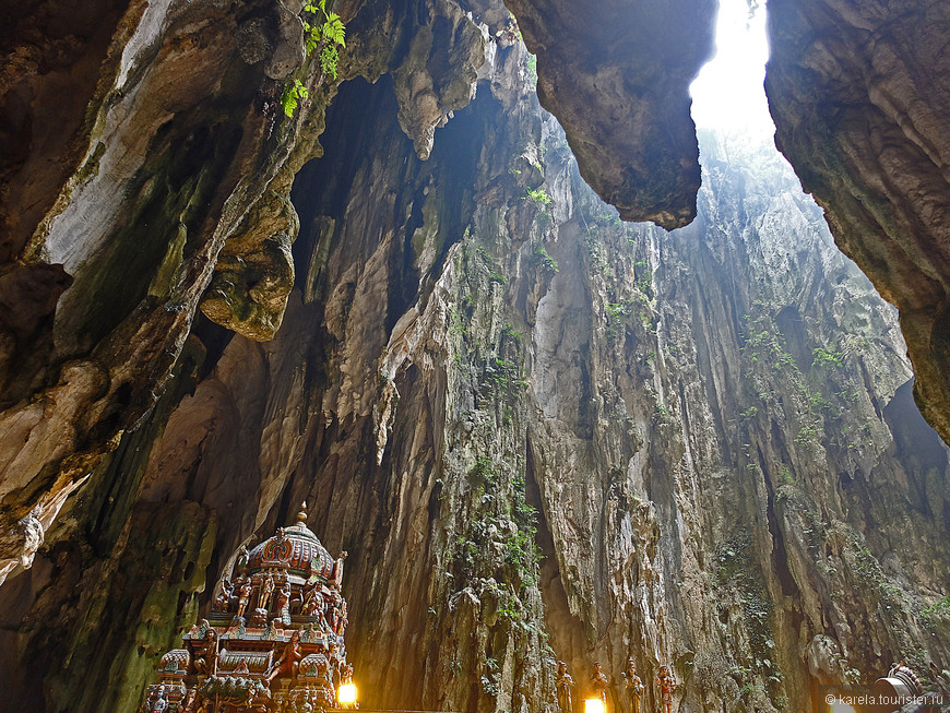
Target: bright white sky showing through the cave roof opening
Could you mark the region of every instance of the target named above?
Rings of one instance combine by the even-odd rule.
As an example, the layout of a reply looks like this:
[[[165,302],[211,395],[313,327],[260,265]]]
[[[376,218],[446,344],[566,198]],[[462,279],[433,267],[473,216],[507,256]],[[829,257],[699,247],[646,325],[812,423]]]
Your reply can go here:
[[[765,9],[749,16],[748,0],[720,0],[716,54],[690,86],[700,129],[772,134],[765,91]]]

